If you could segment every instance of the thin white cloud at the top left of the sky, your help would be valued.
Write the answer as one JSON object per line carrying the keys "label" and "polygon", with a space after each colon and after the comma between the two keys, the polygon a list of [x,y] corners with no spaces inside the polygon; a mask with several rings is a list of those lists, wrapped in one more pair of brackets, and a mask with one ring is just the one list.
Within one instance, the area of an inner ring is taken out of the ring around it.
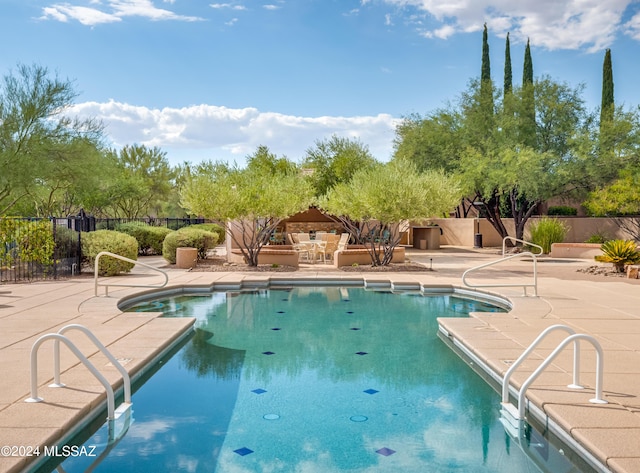
{"label": "thin white cloud at the top left of the sky", "polygon": [[[165,3],[172,4],[172,0],[164,0]],[[87,26],[94,26],[102,23],[114,23],[122,21],[125,17],[142,17],[149,20],[178,20],[178,21],[198,21],[201,18],[194,16],[178,15],[170,10],[157,8],[151,0],[108,0],[102,9],[100,2],[95,0],[85,1],[88,5],[72,5],[70,3],[56,3],[42,9],[41,19],[67,22],[76,20]]]}

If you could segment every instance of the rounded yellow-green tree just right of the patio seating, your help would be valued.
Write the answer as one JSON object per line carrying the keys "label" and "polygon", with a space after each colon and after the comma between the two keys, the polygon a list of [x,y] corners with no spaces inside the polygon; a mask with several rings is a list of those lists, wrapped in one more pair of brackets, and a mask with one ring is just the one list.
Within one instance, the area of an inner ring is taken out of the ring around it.
{"label": "rounded yellow-green tree just right of the patio seating", "polygon": [[459,182],[441,171],[419,173],[399,160],[358,171],[333,187],[322,207],[366,245],[373,266],[388,265],[400,243],[400,224],[451,211],[460,201]]}

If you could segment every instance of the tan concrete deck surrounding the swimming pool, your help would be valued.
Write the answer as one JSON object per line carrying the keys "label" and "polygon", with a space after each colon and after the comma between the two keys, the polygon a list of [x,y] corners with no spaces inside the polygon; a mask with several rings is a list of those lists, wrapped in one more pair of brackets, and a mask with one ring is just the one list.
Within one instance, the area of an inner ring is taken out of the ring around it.
{"label": "tan concrete deck surrounding the swimming pool", "polygon": [[[496,249],[409,249],[407,256],[431,272],[344,272],[323,265],[303,265],[293,273],[197,272],[164,267],[169,286],[227,287],[245,281],[266,283],[270,278],[304,279],[311,283],[329,277],[345,280],[392,281],[408,285],[462,287],[464,270],[499,258]],[[145,263],[165,266],[161,258]],[[581,382],[585,390],[566,388],[571,382],[572,350],[565,350],[527,392],[531,403],[563,428],[610,471],[640,473],[640,280],[578,273],[588,260],[552,260],[538,264],[538,297],[524,297],[521,288],[485,289],[511,301],[505,314],[474,314],[471,318],[443,319],[442,326],[460,345],[497,373],[504,374],[529,343],[546,327],[566,324],[594,336],[604,349],[606,405],[590,404],[595,386],[595,355],[583,345]],[[531,262],[512,260],[484,270],[473,282],[513,283],[530,280]],[[232,268],[230,268],[232,269]],[[479,273],[480,274],[480,273]],[[134,271],[114,278],[134,284],[158,281],[158,276]],[[34,341],[74,323],[89,327],[122,360],[134,376],[149,361],[191,329],[191,319],[158,318],[157,314],[123,314],[117,302],[140,288],[113,287],[109,296],[94,296],[93,279],[83,276],[54,282],[3,285],[0,289],[0,447],[53,446],[79,421],[104,405],[104,388],[68,352],[62,350],[64,389],[49,388],[53,379],[51,345],[39,351],[38,395],[41,403],[25,403],[30,396],[29,354]],[[4,291],[10,291],[6,293]],[[529,290],[531,294],[531,290]],[[119,386],[119,374],[82,334],[70,334],[89,359]],[[536,350],[541,360],[564,334],[553,334]],[[103,369],[104,368],[104,369]],[[512,378],[520,386],[535,366],[526,363]],[[496,406],[498,409],[499,406]],[[2,452],[4,453],[4,452]],[[16,450],[17,453],[17,450]],[[32,458],[0,455],[0,472],[18,472]]]}

